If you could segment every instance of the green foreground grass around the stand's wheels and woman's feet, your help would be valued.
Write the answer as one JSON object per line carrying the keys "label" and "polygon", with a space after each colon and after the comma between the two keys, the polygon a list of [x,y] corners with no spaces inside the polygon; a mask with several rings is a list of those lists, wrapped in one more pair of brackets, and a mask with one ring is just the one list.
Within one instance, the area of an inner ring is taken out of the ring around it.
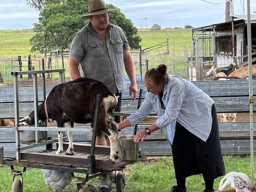
{"label": "green foreground grass around the stand's wheels and woman's feet", "polygon": [[[226,174],[229,172],[242,172],[249,176],[251,182],[254,178],[250,176],[250,156],[224,156]],[[254,162],[255,164],[255,162]],[[126,176],[126,192],[169,192],[170,188],[176,184],[172,157],[149,158],[144,162],[137,162],[124,168]],[[76,176],[85,177],[84,174]],[[20,178],[20,176],[16,176]],[[44,183],[44,178],[40,169],[26,170],[23,174],[24,192],[51,192]],[[214,182],[215,190],[218,189],[219,177]],[[21,179],[21,178],[20,178]],[[89,184],[98,187],[98,179],[89,180]],[[0,192],[10,192],[12,188],[12,174],[10,167],[0,166]],[[202,192],[204,190],[204,180],[202,175],[190,176],[186,179],[186,186],[189,192]],[[114,184],[112,187],[115,188]],[[226,188],[230,188],[228,185]],[[74,180],[63,192],[76,192]],[[116,192],[114,189],[113,192]]]}

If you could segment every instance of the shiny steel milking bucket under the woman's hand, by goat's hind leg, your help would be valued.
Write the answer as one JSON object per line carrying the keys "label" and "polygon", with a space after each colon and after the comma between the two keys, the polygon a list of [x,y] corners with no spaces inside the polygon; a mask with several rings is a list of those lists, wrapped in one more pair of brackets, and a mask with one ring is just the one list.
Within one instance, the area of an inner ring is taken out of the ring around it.
{"label": "shiny steel milking bucket under the woman's hand, by goat's hind leg", "polygon": [[135,135],[118,136],[119,158],[123,161],[136,161],[138,159],[138,143],[134,142]]}

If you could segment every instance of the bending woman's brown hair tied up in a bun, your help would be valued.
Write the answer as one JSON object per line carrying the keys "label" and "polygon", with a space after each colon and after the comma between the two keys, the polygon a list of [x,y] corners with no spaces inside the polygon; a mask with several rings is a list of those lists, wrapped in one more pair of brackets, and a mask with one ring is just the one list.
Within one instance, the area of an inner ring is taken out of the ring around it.
{"label": "bending woman's brown hair tied up in a bun", "polygon": [[153,85],[165,84],[169,80],[169,75],[166,73],[167,67],[164,64],[158,65],[157,68],[152,68],[146,71],[144,80]]}

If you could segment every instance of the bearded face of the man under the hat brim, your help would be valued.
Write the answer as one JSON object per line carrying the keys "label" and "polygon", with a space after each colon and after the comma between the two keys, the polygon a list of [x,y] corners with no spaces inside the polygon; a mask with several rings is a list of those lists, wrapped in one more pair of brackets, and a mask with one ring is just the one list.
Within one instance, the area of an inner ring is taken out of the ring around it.
{"label": "bearded face of the man under the hat brim", "polygon": [[95,29],[103,31],[108,26],[108,14],[90,16],[90,21]]}

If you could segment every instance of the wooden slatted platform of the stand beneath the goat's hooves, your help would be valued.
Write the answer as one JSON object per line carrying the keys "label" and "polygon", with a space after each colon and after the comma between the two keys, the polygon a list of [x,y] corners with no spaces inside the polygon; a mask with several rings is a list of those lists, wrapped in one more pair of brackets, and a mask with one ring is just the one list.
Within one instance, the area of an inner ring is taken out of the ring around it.
{"label": "wooden slatted platform of the stand beneath the goat's hooves", "polygon": [[[66,151],[68,143],[64,142],[63,148]],[[74,155],[55,154],[56,150],[42,150],[38,152],[21,152],[21,160],[18,162],[22,165],[32,164],[37,165],[47,165],[47,166],[57,166],[57,167],[67,167],[67,168],[82,168],[88,169],[88,156],[90,156],[90,144],[79,144],[74,143]],[[128,164],[138,162],[146,159],[144,153],[140,150],[140,156],[138,160],[133,162],[127,162],[117,159],[115,163],[112,163],[110,158],[110,147],[109,146],[96,146],[95,147],[95,158],[96,158],[96,170],[120,170]],[[40,166],[39,166],[40,167]]]}

